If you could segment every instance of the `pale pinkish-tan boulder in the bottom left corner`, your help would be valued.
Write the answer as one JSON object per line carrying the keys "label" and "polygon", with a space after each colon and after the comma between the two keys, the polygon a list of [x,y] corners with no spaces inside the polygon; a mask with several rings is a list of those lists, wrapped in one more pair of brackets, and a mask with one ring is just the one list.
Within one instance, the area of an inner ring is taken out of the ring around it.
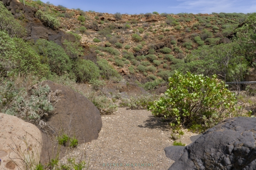
{"label": "pale pinkish-tan boulder in the bottom left corner", "polygon": [[0,113],[0,128],[0,170],[25,170],[23,160],[29,157],[39,163],[42,135],[35,125]]}

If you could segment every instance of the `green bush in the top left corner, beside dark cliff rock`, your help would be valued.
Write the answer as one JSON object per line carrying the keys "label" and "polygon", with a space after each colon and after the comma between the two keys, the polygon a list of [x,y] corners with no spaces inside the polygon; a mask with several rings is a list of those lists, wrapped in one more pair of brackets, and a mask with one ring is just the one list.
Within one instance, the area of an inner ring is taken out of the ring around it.
{"label": "green bush in the top left corner, beside dark cliff rock", "polygon": [[13,17],[12,13],[3,6],[3,2],[0,2],[0,31],[6,31],[10,37],[23,37],[26,33],[17,20]]}

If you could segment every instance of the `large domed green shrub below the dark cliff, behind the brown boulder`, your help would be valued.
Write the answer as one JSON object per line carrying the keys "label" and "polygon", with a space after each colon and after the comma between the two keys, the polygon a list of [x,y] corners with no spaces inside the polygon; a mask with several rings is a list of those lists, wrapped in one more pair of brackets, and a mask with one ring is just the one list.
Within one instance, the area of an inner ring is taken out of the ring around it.
{"label": "large domed green shrub below the dark cliff, behind the brown boulder", "polygon": [[63,75],[71,71],[72,63],[64,49],[52,41],[37,40],[35,51],[42,56],[42,62],[49,65],[52,73]]}

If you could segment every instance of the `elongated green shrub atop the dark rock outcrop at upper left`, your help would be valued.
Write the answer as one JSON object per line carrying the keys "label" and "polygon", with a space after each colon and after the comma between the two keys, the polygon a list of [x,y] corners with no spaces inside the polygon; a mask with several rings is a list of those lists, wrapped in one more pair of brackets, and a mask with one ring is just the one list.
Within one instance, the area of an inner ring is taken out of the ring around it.
{"label": "elongated green shrub atop the dark rock outcrop at upper left", "polygon": [[47,12],[38,10],[35,13],[35,16],[38,17],[43,23],[45,23],[50,28],[58,28],[60,26],[60,22],[58,21],[58,19],[53,17],[51,14],[48,14]]}

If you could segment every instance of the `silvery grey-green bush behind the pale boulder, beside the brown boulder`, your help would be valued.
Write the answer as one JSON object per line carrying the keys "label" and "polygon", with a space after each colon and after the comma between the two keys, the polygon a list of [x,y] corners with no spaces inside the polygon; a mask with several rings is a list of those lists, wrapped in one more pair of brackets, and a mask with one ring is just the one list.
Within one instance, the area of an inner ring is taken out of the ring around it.
{"label": "silvery grey-green bush behind the pale boulder, beside the brown boulder", "polygon": [[51,92],[48,85],[41,86],[40,83],[30,91],[18,88],[15,82],[2,83],[0,85],[1,112],[37,125],[40,122],[44,124],[43,119],[50,116],[54,109],[49,96],[52,96],[52,101],[54,101],[58,91]]}

